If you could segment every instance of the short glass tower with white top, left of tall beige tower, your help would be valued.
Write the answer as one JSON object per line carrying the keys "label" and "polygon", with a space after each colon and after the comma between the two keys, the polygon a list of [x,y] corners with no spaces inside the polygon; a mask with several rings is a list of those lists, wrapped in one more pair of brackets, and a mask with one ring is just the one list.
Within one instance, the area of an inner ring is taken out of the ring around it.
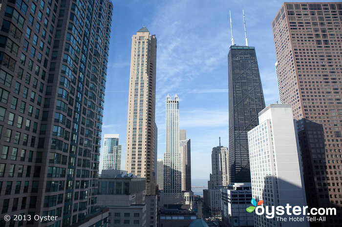
{"label": "short glass tower with white top, left of tall beige tower", "polygon": [[120,169],[121,145],[119,134],[105,134],[105,142],[102,154],[102,169]]}

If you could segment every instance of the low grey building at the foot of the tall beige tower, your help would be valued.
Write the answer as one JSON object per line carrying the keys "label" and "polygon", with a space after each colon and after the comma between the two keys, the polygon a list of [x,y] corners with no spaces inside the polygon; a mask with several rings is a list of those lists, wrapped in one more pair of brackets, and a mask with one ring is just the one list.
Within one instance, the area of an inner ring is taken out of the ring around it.
{"label": "low grey building at the foot of the tall beige tower", "polygon": [[109,209],[108,227],[147,227],[146,179],[123,170],[102,170],[98,203]]}

